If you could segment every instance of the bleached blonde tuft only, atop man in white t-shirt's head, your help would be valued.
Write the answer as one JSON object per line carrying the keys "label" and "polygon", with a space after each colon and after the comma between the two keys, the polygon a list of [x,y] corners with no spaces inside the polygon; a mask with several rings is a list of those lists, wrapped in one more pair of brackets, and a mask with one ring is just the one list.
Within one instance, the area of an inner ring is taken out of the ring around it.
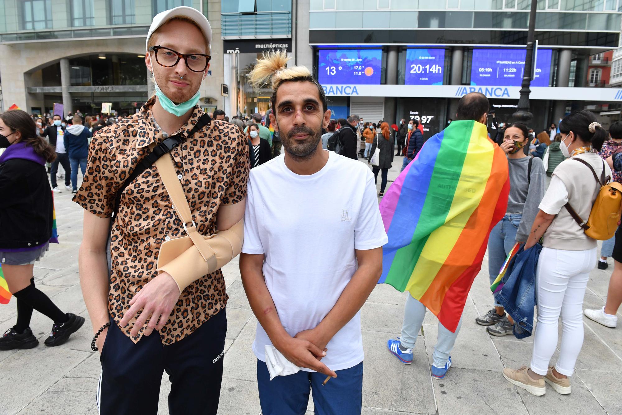
{"label": "bleached blonde tuft only, atop man in white t-shirt's head", "polygon": [[304,66],[287,67],[290,57],[284,49],[263,52],[255,67],[248,74],[249,83],[258,90],[272,81],[271,88],[276,90],[282,82],[302,77],[311,77],[311,72]]}

